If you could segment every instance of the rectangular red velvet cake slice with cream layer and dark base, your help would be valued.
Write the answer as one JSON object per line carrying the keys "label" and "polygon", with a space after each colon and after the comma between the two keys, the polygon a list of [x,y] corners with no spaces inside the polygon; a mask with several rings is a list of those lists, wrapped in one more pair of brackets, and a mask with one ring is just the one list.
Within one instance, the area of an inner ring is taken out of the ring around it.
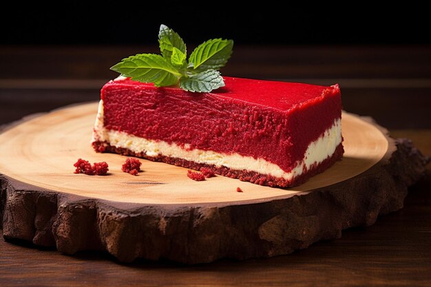
{"label": "rectangular red velvet cake slice with cream layer and dark base", "polygon": [[300,184],[343,155],[338,85],[231,77],[224,83],[193,93],[109,81],[92,145],[271,187]]}

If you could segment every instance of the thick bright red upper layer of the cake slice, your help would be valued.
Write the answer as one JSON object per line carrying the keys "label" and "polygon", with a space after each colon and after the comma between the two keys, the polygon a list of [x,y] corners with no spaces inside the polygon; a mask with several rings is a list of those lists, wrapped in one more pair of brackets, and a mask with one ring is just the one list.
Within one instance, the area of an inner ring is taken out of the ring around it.
{"label": "thick bright red upper layer of the cake slice", "polygon": [[110,81],[103,89],[104,124],[188,149],[264,158],[291,171],[308,145],[341,118],[338,85],[224,77],[211,93]]}

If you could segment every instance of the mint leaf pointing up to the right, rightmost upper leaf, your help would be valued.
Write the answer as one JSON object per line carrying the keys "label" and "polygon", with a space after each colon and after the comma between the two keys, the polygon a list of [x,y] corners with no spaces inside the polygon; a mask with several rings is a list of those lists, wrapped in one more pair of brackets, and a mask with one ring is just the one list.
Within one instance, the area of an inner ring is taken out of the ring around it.
{"label": "mint leaf pointing up to the right, rightmost upper leaf", "polygon": [[211,39],[196,47],[189,57],[189,68],[194,72],[219,70],[232,54],[233,41]]}

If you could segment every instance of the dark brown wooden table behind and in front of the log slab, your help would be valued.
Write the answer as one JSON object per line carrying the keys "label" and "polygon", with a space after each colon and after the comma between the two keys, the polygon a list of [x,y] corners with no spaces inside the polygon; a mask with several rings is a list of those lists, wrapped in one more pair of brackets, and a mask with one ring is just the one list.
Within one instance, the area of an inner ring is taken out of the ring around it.
{"label": "dark brown wooden table behind and in front of the log slab", "polygon": [[[108,77],[105,66],[116,57],[133,54],[134,49],[0,47],[0,63],[10,68],[9,73],[0,69],[0,124],[68,103],[96,100]],[[240,56],[227,74],[257,78],[270,74],[271,78],[299,78],[310,83],[322,82],[316,80],[321,78],[328,83],[337,81],[346,110],[377,118],[392,136],[410,138],[423,153],[431,154],[430,47],[238,50]],[[259,53],[289,56],[253,62]],[[36,68],[40,61],[27,61],[30,67],[25,72],[14,72],[8,59],[16,59],[13,56],[17,54],[25,55],[22,61],[34,56],[50,59],[48,66],[55,64],[61,69],[55,74],[48,67],[41,73]],[[334,67],[331,61],[335,59]],[[311,70],[307,72],[305,66]],[[96,67],[104,72],[95,72]],[[338,240],[271,259],[224,259],[198,266],[145,261],[118,264],[105,253],[66,256],[0,237],[0,286],[84,285],[431,286],[431,167],[428,165],[425,178],[410,188],[400,211],[380,217],[373,226],[344,231]]]}

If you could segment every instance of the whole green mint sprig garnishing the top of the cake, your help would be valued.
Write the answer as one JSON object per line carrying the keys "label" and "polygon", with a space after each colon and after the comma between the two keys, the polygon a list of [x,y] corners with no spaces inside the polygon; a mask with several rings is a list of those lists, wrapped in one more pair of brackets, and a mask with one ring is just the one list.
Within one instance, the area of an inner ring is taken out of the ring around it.
{"label": "whole green mint sprig garnishing the top of the cake", "polygon": [[211,39],[198,45],[187,61],[187,47],[180,35],[160,25],[158,43],[161,55],[136,54],[123,59],[111,70],[134,81],[156,87],[179,85],[189,92],[211,92],[224,87],[221,67],[231,57],[233,41]]}

